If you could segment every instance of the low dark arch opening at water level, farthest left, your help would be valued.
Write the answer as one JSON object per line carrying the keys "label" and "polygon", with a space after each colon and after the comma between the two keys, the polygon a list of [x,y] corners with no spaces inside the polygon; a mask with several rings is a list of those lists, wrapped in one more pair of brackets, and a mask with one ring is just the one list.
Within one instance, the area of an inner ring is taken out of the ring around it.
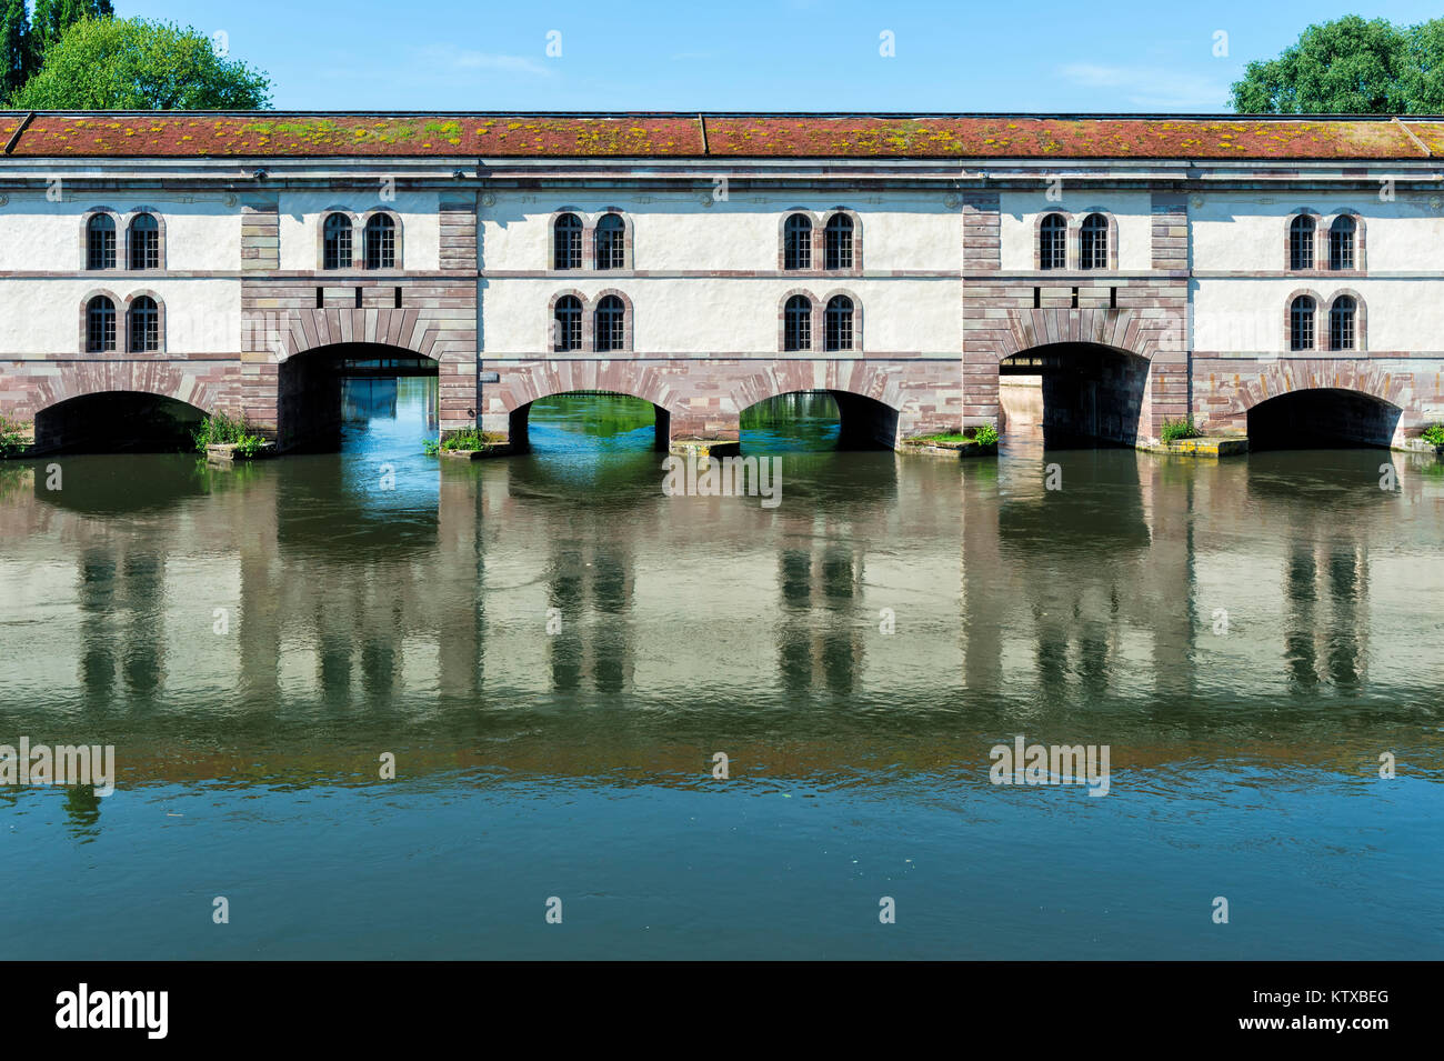
{"label": "low dark arch opening at water level, farthest left", "polygon": [[183,453],[205,410],[149,391],[78,394],[36,411],[36,453]]}

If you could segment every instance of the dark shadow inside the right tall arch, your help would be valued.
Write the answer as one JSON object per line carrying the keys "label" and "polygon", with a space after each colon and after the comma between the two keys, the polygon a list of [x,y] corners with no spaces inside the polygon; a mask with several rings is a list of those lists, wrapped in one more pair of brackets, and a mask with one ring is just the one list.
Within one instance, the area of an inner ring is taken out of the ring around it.
{"label": "dark shadow inside the right tall arch", "polygon": [[1051,342],[998,364],[1001,377],[1041,377],[1043,445],[1136,445],[1148,436],[1148,358],[1100,342]]}

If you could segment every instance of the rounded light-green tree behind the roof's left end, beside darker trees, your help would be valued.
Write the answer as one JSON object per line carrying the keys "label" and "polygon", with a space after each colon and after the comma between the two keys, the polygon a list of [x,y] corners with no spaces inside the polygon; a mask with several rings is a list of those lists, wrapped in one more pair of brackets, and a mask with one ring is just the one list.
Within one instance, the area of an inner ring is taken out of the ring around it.
{"label": "rounded light-green tree behind the roof's left end, beside darker trees", "polygon": [[17,110],[254,110],[270,78],[169,22],[82,19],[12,98]]}

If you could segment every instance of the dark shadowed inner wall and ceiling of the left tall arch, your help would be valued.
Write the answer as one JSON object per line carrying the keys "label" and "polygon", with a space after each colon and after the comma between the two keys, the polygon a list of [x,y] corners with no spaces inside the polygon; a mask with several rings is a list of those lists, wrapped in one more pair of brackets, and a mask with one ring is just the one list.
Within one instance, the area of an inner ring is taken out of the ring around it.
{"label": "dark shadowed inner wall and ceiling of the left tall arch", "polygon": [[277,447],[339,447],[342,380],[438,375],[439,364],[425,354],[380,342],[334,342],[293,354],[280,362],[277,378]]}

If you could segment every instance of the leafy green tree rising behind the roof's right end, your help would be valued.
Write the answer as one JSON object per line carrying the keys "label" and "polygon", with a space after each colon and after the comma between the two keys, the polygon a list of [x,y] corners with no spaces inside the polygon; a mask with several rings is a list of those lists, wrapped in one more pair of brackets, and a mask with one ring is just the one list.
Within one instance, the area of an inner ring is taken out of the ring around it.
{"label": "leafy green tree rising behind the roof's right end", "polygon": [[1240,114],[1437,114],[1444,110],[1444,19],[1399,29],[1347,14],[1310,26],[1233,85]]}

